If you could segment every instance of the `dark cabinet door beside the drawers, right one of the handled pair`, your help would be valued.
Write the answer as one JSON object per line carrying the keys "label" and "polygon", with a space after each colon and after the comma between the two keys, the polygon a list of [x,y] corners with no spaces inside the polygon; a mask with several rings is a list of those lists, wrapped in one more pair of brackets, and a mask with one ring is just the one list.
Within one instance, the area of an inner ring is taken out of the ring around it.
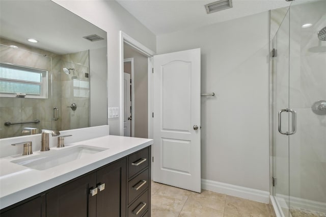
{"label": "dark cabinet door beside the drawers, right one of the handled pair", "polygon": [[126,216],[126,176],[126,158],[97,171],[97,186],[105,187],[98,188],[96,217]]}

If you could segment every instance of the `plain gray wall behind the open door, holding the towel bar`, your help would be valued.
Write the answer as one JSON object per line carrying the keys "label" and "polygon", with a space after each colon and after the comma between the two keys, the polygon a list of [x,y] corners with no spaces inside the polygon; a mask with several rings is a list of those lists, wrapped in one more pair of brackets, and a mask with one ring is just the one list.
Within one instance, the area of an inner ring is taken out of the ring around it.
{"label": "plain gray wall behind the open door, holding the towel bar", "polygon": [[269,13],[157,36],[157,53],[198,47],[216,94],[201,98],[202,178],[269,192]]}

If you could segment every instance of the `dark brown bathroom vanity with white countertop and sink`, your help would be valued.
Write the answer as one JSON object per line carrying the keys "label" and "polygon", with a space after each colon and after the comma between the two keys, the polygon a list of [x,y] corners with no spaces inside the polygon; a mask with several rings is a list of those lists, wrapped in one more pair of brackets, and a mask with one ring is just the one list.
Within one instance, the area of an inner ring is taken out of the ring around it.
{"label": "dark brown bathroom vanity with white countertop and sink", "polygon": [[[150,216],[152,144],[106,135],[51,154],[1,158],[1,216]],[[66,162],[71,150],[79,158]],[[64,163],[42,161],[61,154],[56,159]]]}

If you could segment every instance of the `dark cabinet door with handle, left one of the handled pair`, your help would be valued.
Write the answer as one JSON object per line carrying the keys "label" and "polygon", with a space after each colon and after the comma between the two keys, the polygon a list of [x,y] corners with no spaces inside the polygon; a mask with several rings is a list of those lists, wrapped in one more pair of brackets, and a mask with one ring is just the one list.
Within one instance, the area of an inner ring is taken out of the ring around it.
{"label": "dark cabinet door with handle, left one of the handled pair", "polygon": [[94,187],[95,172],[56,187],[46,195],[46,217],[95,217],[96,195],[89,194]]}

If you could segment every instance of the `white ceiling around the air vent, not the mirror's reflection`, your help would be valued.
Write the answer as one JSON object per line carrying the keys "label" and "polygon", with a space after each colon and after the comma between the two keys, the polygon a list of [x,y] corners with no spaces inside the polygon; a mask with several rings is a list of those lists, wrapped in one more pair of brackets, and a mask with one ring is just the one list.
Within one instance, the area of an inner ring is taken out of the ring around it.
{"label": "white ceiling around the air vent, not the mirror's reflection", "polygon": [[205,5],[214,0],[116,1],[155,35],[195,29],[290,5],[285,0],[233,0],[233,8],[207,14]]}

